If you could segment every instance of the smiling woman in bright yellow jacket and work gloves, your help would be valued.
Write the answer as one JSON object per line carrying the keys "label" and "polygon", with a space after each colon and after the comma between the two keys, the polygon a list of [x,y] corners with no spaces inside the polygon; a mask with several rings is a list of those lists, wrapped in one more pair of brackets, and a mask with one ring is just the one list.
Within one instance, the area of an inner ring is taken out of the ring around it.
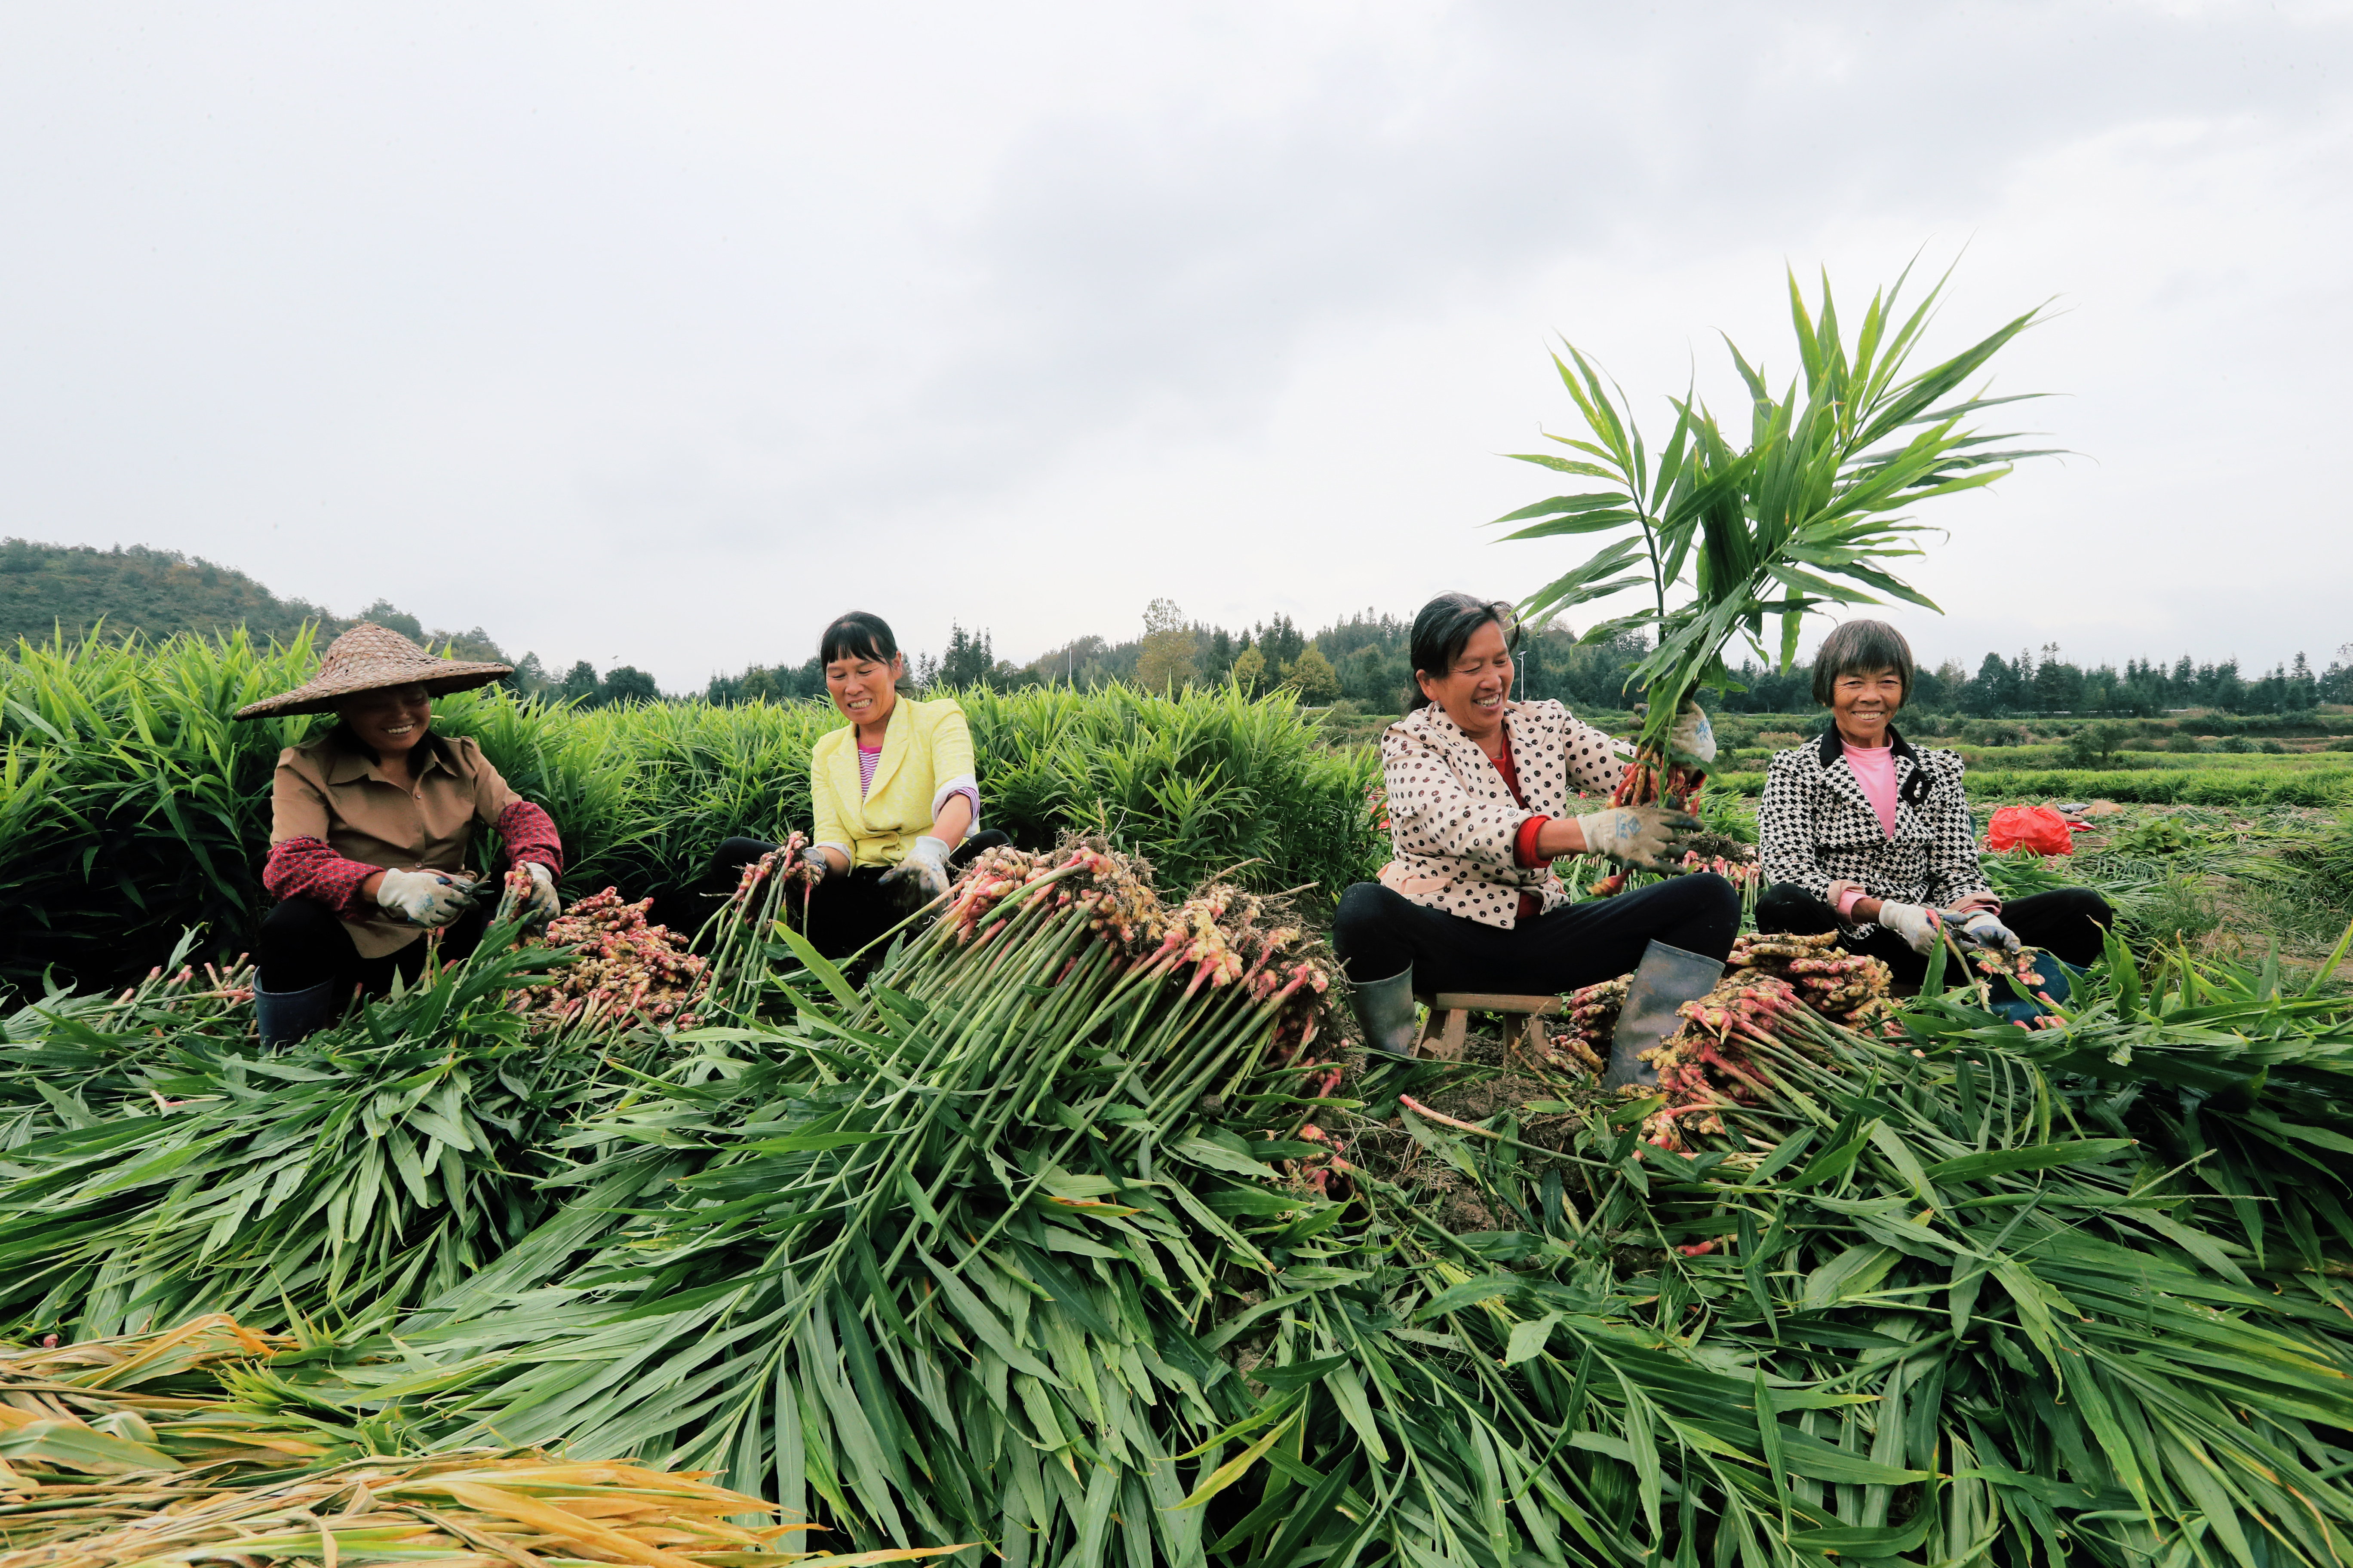
{"label": "smiling woman in bright yellow jacket and work gloves", "polygon": [[[899,691],[906,656],[880,616],[849,611],[838,618],[816,656],[826,668],[826,696],[849,724],[819,736],[809,750],[816,820],[802,872],[807,936],[828,959],[842,959],[946,893],[972,856],[1012,839],[976,832],[981,785],[965,710],[955,698],[925,703]],[[722,842],[699,884],[701,912],[772,849],[765,839]],[[696,919],[692,910],[675,912],[685,919],[671,924]]]}

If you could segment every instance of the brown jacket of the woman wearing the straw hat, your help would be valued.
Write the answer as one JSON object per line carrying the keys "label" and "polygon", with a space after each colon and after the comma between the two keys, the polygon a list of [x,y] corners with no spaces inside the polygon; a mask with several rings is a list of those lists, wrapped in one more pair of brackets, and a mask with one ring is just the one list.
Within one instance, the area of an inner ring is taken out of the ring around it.
{"label": "brown jacket of the woman wearing the straw hat", "polygon": [[[492,827],[518,795],[473,741],[428,733],[416,745],[416,785],[402,790],[341,729],[278,752],[271,780],[271,844],[322,839],[362,865],[466,870],[473,825]],[[421,929],[391,919],[344,919],[362,959],[400,952]]]}

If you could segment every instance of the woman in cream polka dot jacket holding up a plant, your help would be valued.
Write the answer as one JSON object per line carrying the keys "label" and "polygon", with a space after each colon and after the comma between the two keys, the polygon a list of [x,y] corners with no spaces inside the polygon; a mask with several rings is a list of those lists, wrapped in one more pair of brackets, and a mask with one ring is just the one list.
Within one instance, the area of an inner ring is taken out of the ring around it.
{"label": "woman in cream polka dot jacket holding up a plant", "polygon": [[[1414,616],[1412,710],[1381,736],[1395,858],[1379,882],[1341,896],[1332,926],[1377,1051],[1412,1051],[1414,992],[1551,997],[1642,966],[1661,971],[1652,978],[1680,1004],[1722,976],[1732,950],[1741,900],[1708,872],[1569,903],[1555,858],[1602,853],[1659,870],[1682,858],[1678,837],[1699,823],[1664,806],[1572,813],[1572,790],[1617,788],[1626,752],[1560,703],[1513,703],[1515,642],[1511,607],[1466,592]],[[1675,748],[1699,762],[1715,755],[1697,708]],[[1678,961],[1680,976],[1666,976]],[[1626,1056],[1612,1079],[1642,1077]]]}

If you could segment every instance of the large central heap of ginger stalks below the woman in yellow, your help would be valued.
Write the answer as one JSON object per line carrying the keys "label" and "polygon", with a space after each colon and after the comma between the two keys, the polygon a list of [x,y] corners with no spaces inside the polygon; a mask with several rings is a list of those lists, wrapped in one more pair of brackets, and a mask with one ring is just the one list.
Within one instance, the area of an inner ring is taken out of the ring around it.
{"label": "large central heap of ginger stalks below the woman in yellow", "polygon": [[1252,1413],[1202,1335],[1235,1269],[1266,1276],[1240,1227],[1311,1201],[1249,1178],[1329,1150],[1287,1135],[1337,1079],[1322,945],[1075,842],[981,853],[852,985],[786,870],[753,867],[715,933],[744,1011],[567,1135],[565,1246],[400,1328],[466,1368],[452,1441],[659,1453],[878,1549],[1198,1561],[1179,1472],[1219,1462],[1169,1455]]}

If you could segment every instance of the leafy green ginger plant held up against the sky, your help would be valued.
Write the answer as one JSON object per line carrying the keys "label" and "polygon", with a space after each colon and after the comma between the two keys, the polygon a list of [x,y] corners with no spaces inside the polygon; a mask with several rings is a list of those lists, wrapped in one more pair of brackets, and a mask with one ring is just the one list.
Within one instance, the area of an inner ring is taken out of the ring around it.
{"label": "leafy green ginger plant held up against the sky", "polygon": [[[1607,489],[1548,496],[1497,522],[1525,524],[1506,538],[1612,536],[1584,564],[1527,595],[1520,611],[1532,621],[1624,588],[1652,590],[1645,609],[1602,621],[1584,637],[1607,642],[1624,630],[1657,628],[1657,646],[1631,677],[1647,693],[1649,712],[1612,804],[1692,802],[1706,759],[1692,757],[1678,736],[1692,729],[1687,715],[1701,689],[1734,689],[1722,658],[1732,637],[1746,635],[1762,663],[1788,668],[1809,609],[1878,604],[1875,595],[1937,609],[1887,571],[1889,557],[1920,552],[1911,543],[1920,527],[1901,510],[1993,484],[2017,458],[2045,456],[1991,451],[1988,444],[2014,437],[1984,435],[1967,423],[1979,409],[2017,397],[1944,402],[2042,310],[1906,376],[1944,280],[1899,322],[1901,289],[1904,277],[1897,277],[1892,289],[1871,296],[1849,350],[1828,277],[1821,308],[1807,310],[1791,275],[1791,322],[1805,374],[1779,397],[1765,371],[1727,339],[1751,395],[1746,447],[1727,442],[1706,404],[1687,393],[1668,400],[1675,428],[1652,451],[1617,383],[1574,346],[1562,346],[1567,362],[1553,357],[1586,433],[1551,437],[1574,456],[1513,456],[1600,480]],[[1765,621],[1774,616],[1781,621],[1779,656],[1765,649]]]}

